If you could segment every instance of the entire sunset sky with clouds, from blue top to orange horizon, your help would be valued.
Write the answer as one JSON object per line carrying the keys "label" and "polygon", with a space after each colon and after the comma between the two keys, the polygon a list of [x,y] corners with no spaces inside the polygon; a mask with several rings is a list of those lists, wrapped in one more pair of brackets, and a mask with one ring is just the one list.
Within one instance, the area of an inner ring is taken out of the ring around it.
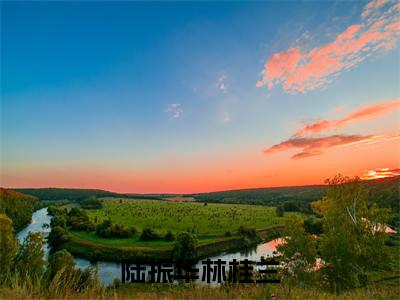
{"label": "entire sunset sky with clouds, from blue top to orange horizon", "polygon": [[400,3],[1,2],[0,185],[400,174]]}

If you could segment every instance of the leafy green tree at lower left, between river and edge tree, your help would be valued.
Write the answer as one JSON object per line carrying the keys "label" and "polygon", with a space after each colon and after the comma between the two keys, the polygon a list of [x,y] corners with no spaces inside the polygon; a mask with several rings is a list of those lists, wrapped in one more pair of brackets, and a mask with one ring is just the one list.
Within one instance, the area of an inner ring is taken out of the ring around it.
{"label": "leafy green tree at lower left, between river and edge tree", "polygon": [[23,281],[40,280],[45,269],[44,238],[39,232],[29,232],[15,258],[15,270]]}

